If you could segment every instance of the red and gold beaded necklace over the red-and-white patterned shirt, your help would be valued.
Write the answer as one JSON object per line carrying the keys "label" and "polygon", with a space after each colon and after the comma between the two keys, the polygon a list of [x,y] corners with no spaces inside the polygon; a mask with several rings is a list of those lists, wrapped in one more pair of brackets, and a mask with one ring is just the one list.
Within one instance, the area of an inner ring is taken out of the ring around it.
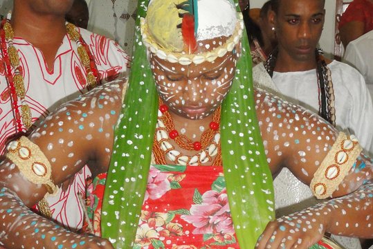
{"label": "red and gold beaded necklace over the red-and-white patterned shirt", "polygon": [[[78,45],[78,56],[87,74],[87,89],[93,89],[100,84],[100,75],[95,66],[93,55],[86,42],[78,33],[73,24],[66,22],[66,31],[69,38]],[[1,21],[0,44],[3,61],[5,62],[6,79],[10,90],[12,109],[15,116],[16,130],[22,132],[22,123],[26,129],[33,124],[30,107],[26,102],[26,89],[24,86],[23,68],[20,63],[17,48],[13,43],[14,32],[10,25],[10,17]],[[14,75],[12,73],[14,72]],[[20,100],[20,104],[19,104]],[[20,111],[19,111],[20,109]]]}

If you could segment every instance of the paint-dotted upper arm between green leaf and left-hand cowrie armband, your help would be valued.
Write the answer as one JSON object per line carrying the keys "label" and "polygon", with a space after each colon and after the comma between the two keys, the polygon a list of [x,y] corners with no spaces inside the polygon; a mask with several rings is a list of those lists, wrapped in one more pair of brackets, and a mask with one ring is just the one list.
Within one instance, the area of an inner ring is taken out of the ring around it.
{"label": "paint-dotted upper arm between green leaf and left-hand cowrie armband", "polygon": [[[122,89],[127,83],[110,82],[80,98],[66,102],[39,124],[30,135],[51,161],[55,181],[64,181],[90,162],[108,164],[113,144],[113,127],[122,106]],[[64,172],[64,174],[61,174]],[[66,174],[67,173],[67,174]]]}

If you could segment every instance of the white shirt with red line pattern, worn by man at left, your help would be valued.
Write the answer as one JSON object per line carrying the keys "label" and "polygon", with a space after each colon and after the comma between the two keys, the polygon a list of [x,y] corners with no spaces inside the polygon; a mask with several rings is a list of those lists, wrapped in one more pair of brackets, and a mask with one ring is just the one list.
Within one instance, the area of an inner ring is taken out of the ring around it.
{"label": "white shirt with red line pattern, worn by man at left", "polygon": [[[82,38],[89,46],[100,73],[102,83],[127,75],[129,57],[116,42],[79,28]],[[26,102],[31,109],[33,123],[44,119],[63,102],[86,92],[87,75],[80,62],[77,44],[65,35],[57,50],[53,68],[48,68],[42,52],[21,37],[13,39],[23,68]],[[14,73],[14,72],[13,72]],[[24,131],[26,128],[23,127]],[[6,79],[6,64],[0,53],[0,151],[6,141],[17,132],[10,89]],[[74,183],[66,192],[48,199],[53,218],[70,228],[80,228],[83,222],[78,192],[85,192],[85,179],[90,175],[84,167],[76,174]]]}

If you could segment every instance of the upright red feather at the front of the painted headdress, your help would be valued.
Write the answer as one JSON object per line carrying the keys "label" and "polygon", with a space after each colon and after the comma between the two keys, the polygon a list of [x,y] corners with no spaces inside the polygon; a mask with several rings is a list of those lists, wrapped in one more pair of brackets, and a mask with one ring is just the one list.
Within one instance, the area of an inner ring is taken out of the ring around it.
{"label": "upright red feather at the front of the painted headdress", "polygon": [[197,50],[197,28],[198,28],[198,12],[197,12],[197,0],[188,0],[179,5],[176,8],[185,10],[186,12],[181,13],[182,17],[181,35],[183,35],[184,49],[188,53],[194,53]]}

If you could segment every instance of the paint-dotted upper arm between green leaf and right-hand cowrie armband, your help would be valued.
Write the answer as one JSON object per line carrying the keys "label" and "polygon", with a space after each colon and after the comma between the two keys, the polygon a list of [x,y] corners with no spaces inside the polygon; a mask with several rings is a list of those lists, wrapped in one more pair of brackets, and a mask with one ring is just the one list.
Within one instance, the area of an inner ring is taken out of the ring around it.
{"label": "paint-dotted upper arm between green leaf and right-hand cowrie armband", "polygon": [[307,183],[336,139],[336,129],[304,107],[255,90],[255,109],[273,174],[288,167]]}

